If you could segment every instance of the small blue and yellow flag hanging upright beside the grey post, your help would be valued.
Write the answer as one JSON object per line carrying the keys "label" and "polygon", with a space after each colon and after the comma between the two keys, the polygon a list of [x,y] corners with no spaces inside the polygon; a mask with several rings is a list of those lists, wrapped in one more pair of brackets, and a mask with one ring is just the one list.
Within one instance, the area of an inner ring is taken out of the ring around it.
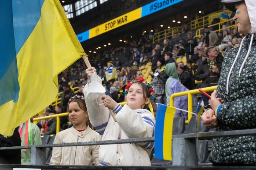
{"label": "small blue and yellow flag hanging upright beside the grey post", "polygon": [[172,125],[175,107],[157,103],[155,157],[172,160]]}

